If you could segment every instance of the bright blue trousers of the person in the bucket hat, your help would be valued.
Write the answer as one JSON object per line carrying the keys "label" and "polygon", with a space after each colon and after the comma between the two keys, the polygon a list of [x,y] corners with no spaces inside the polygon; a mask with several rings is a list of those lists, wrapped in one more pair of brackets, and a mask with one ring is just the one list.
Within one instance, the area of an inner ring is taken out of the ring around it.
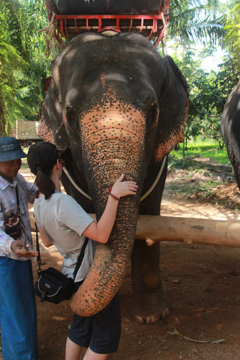
{"label": "bright blue trousers of the person in the bucket hat", "polygon": [[31,260],[0,256],[3,360],[37,360],[37,310]]}

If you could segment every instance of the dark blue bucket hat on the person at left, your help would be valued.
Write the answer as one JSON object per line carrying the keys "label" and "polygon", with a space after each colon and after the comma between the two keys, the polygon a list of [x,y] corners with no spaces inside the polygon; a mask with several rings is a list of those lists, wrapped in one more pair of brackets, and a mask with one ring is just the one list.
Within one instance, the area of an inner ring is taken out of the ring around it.
{"label": "dark blue bucket hat on the person at left", "polygon": [[0,137],[0,162],[27,157],[21,150],[20,142],[15,137]]}

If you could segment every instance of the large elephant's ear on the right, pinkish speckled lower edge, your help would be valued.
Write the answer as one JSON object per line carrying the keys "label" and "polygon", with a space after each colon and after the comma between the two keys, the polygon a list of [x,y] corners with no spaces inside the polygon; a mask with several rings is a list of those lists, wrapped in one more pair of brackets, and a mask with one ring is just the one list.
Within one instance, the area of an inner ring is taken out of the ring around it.
{"label": "large elephant's ear on the right, pinkish speckled lower edge", "polygon": [[178,142],[184,140],[189,103],[188,85],[181,70],[170,56],[165,56],[162,61],[166,73],[160,89],[160,112],[154,152],[156,162],[160,162]]}

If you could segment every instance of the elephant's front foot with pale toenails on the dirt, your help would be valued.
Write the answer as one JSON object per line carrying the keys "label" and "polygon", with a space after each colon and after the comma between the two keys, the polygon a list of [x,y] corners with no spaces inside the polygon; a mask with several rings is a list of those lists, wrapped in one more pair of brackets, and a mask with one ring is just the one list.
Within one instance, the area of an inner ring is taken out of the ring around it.
{"label": "elephant's front foot with pale toenails on the dirt", "polygon": [[170,315],[170,303],[165,295],[156,301],[139,301],[139,298],[132,300],[132,315],[139,324],[152,325],[166,319]]}

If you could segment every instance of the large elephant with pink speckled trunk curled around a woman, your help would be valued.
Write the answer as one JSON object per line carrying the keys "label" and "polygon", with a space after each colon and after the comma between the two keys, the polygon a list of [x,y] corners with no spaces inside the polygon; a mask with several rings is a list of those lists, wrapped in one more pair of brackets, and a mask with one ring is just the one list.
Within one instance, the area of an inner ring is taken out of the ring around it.
{"label": "large elephant with pink speckled trunk curled around a woman", "polygon": [[70,307],[90,316],[118,291],[132,263],[132,315],[139,323],[169,316],[159,274],[159,244],[135,239],[138,214],[159,215],[167,161],[184,139],[188,111],[186,79],[170,56],[161,57],[137,33],[84,33],[71,40],[53,64],[42,104],[42,139],[55,143],[79,193],[63,173],[62,184],[97,221],[109,187],[122,173],[138,185],[121,198],[107,244],[97,244],[90,271]]}

